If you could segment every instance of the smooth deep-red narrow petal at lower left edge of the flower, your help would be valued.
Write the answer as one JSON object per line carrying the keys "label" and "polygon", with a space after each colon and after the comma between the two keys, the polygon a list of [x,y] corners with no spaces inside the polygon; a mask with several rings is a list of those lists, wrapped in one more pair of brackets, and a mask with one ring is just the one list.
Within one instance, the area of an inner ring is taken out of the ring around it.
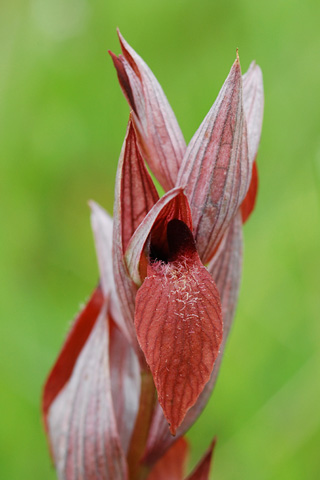
{"label": "smooth deep-red narrow petal at lower left edge of the flower", "polygon": [[69,381],[77,358],[85,345],[103,305],[103,293],[98,286],[82,312],[75,319],[43,389],[42,413],[48,430],[48,411],[59,392]]}

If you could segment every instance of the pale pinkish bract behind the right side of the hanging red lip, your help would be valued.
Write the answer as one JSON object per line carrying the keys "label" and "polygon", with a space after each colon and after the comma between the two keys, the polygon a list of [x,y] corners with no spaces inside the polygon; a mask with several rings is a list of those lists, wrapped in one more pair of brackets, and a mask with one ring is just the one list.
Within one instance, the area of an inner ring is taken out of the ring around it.
{"label": "pale pinkish bract behind the right side of the hanging red lip", "polygon": [[[222,305],[223,341],[220,347],[220,353],[215,361],[209,382],[204,387],[194,407],[187,412],[186,418],[177,430],[177,436],[184,435],[193,425],[206,406],[214,388],[220,369],[224,345],[230,331],[237,304],[241,280],[241,266],[242,222],[240,212],[238,212],[226,231],[217,253],[208,265],[208,271],[212,275],[220,292]],[[157,459],[170,448],[174,441],[175,438],[170,435],[162,409],[158,405],[155,409],[144,455],[146,464],[152,465],[157,461]]]}

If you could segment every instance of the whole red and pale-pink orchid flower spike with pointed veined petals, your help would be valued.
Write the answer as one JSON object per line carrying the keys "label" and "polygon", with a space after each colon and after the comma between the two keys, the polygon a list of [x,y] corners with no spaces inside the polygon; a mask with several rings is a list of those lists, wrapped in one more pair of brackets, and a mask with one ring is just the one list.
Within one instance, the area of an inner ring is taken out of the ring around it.
{"label": "whole red and pale-pink orchid flower spike with pointed veined petals", "polygon": [[[237,58],[186,146],[151,70],[119,33],[130,106],[113,219],[90,202],[100,281],[44,387],[63,480],[182,480],[183,435],[214,387],[257,193],[260,68]],[[165,190],[159,198],[146,163]],[[206,480],[214,442],[189,480]]]}

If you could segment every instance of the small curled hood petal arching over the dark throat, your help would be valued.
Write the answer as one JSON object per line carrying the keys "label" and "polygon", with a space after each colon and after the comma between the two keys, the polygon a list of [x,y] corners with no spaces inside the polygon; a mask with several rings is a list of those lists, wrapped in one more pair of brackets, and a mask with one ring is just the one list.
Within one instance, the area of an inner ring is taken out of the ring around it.
{"label": "small curled hood petal arching over the dark throat", "polygon": [[[146,268],[146,259],[143,252],[151,231],[154,233],[155,243],[166,247],[167,224],[170,220],[182,220],[192,229],[190,207],[183,187],[173,188],[158,200],[150,212],[141,222],[125,253],[126,264],[130,277],[136,285],[141,285],[141,271]],[[146,272],[143,272],[144,276]]]}

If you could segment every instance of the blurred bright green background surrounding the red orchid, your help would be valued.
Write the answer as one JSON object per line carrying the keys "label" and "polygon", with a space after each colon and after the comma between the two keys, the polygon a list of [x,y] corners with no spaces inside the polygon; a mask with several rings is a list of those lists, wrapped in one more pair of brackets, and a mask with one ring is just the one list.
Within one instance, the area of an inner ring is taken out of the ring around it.
{"label": "blurred bright green background surrounding the red orchid", "polygon": [[320,478],[320,3],[2,0],[0,478],[54,479],[42,384],[96,284],[88,199],[112,211],[128,118],[119,26],[187,141],[239,47],[261,65],[260,191],[240,302],[190,466],[218,436],[213,478]]}

